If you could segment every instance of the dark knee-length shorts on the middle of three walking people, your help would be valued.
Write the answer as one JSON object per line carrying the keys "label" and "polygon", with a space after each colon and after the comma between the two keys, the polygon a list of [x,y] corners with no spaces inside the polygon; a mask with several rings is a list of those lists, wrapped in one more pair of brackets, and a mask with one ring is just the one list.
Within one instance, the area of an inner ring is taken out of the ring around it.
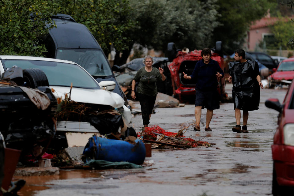
{"label": "dark knee-length shorts on the middle of three walking people", "polygon": [[215,90],[199,90],[196,89],[195,106],[202,106],[209,110],[216,110],[220,108],[220,95]]}

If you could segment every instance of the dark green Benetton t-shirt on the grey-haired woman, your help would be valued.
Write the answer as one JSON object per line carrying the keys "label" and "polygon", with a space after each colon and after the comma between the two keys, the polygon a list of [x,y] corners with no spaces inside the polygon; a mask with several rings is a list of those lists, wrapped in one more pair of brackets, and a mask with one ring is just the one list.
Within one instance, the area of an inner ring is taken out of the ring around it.
{"label": "dark green Benetton t-shirt on the grey-haired woman", "polygon": [[141,67],[134,77],[134,81],[139,82],[138,93],[156,96],[156,79],[161,79],[161,74],[157,68],[152,67],[152,70],[147,72],[145,67]]}

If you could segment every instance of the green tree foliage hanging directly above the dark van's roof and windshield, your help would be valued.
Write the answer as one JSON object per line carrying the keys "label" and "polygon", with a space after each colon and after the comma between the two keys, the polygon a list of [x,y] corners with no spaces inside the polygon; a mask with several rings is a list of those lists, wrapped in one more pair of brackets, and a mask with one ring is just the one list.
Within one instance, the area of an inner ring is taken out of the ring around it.
{"label": "green tree foliage hanging directly above the dark van's roof and windshield", "polygon": [[53,0],[60,13],[71,15],[78,23],[84,24],[104,52],[111,45],[121,51],[128,46],[130,38],[124,32],[134,27],[135,21],[129,16],[127,0]]}

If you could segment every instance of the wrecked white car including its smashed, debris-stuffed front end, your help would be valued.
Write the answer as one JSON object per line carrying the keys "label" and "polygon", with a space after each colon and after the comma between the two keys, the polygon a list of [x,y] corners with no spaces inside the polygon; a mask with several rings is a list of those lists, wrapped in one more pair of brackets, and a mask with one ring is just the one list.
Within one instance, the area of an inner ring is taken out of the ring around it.
{"label": "wrecked white car including its smashed, debris-stuffed front end", "polygon": [[[124,134],[131,127],[129,125],[132,119],[130,109],[124,105],[124,100],[121,96],[109,91],[115,88],[114,82],[101,81],[98,83],[77,63],[53,58],[27,56],[0,56],[0,61],[1,73],[16,66],[23,70],[37,68],[46,74],[49,87],[53,89],[55,98],[59,99],[61,103],[58,104],[56,109],[57,112],[61,111],[61,115],[57,118],[55,140],[66,141],[66,132],[110,134],[120,131],[121,134]],[[34,88],[34,82],[38,82],[38,80],[33,80],[32,82],[29,85]],[[49,90],[51,92],[51,89]],[[70,107],[65,107],[67,110],[61,110],[62,103],[69,103],[69,101],[75,104],[67,106],[74,106],[78,109],[83,108],[81,113],[78,114],[74,110],[75,108]],[[58,145],[63,142],[51,143],[52,145]]]}

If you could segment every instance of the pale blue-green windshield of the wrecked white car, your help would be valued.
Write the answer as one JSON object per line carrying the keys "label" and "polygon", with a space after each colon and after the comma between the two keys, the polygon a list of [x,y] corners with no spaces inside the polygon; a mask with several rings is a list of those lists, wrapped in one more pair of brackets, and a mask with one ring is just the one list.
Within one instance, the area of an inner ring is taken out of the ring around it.
{"label": "pale blue-green windshield of the wrecked white car", "polygon": [[50,86],[70,86],[84,89],[100,89],[97,82],[80,66],[51,61],[2,60],[4,69],[17,66],[24,69],[39,68],[48,78]]}

